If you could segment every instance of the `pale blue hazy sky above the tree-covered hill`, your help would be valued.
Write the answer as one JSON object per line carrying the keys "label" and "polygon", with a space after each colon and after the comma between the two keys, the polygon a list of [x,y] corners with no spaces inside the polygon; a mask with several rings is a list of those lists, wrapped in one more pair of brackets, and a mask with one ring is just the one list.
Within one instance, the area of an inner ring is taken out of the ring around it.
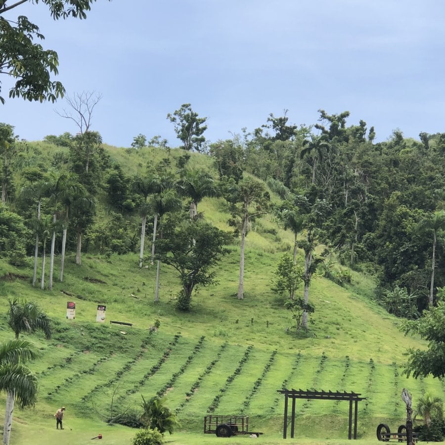
{"label": "pale blue hazy sky above the tree-covered hill", "polygon": [[[3,16],[18,15],[57,51],[54,80],[69,96],[102,95],[91,130],[110,145],[159,134],[179,146],[167,114],[183,103],[208,118],[209,141],[284,110],[308,126],[318,109],[348,110],[348,125],[364,120],[377,141],[445,132],[443,0],[97,0],[86,20],[58,21],[27,2]],[[77,133],[57,114],[64,99],[9,99],[1,76],[0,122],[20,138]]]}

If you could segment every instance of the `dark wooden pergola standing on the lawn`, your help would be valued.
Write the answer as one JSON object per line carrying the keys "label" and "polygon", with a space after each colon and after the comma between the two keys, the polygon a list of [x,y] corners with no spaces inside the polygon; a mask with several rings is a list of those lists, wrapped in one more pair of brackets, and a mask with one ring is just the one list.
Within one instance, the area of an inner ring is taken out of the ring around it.
{"label": "dark wooden pergola standing on the lawn", "polygon": [[291,438],[294,437],[295,432],[295,400],[296,399],[306,399],[306,400],[344,400],[349,401],[349,432],[348,439],[352,439],[352,422],[353,422],[353,403],[354,408],[354,439],[357,439],[357,402],[361,400],[366,400],[366,397],[359,397],[360,394],[346,391],[333,393],[332,391],[303,391],[300,390],[278,390],[278,393],[284,394],[284,426],[283,426],[283,439],[287,438],[287,419],[288,419],[288,401],[292,399],[292,414],[291,414]]}

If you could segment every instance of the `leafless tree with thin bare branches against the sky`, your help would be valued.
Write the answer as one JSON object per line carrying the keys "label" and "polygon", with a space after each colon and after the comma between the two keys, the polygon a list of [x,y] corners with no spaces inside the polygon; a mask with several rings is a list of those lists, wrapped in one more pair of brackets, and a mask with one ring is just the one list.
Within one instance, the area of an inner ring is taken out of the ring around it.
{"label": "leafless tree with thin bare branches against the sky", "polygon": [[72,96],[65,96],[69,108],[63,108],[62,112],[56,110],[56,113],[65,118],[71,119],[76,123],[81,134],[87,133],[91,126],[91,116],[94,107],[102,99],[101,93],[95,91],[82,91],[81,93],[74,93]]}

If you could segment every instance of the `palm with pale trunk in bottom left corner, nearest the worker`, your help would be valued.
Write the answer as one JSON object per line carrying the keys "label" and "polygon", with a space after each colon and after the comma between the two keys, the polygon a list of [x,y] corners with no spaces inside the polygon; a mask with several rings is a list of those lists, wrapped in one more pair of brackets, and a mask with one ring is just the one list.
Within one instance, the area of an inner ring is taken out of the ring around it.
{"label": "palm with pale trunk in bottom left corner, nearest the worker", "polygon": [[0,391],[6,393],[3,445],[9,445],[14,402],[17,401],[20,407],[36,402],[37,378],[24,364],[36,357],[33,345],[25,340],[0,343]]}

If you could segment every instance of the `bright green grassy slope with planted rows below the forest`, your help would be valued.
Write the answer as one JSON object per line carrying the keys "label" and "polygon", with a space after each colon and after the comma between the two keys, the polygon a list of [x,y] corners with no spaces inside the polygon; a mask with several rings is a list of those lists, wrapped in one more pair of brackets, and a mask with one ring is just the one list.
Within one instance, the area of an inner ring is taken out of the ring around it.
{"label": "bright green grassy slope with planted rows below the forest", "polygon": [[[126,161],[134,154],[109,150],[123,165],[134,166],[134,159]],[[145,166],[148,160],[139,162]],[[205,199],[199,211],[228,229],[222,200]],[[291,234],[271,218],[262,220],[247,237],[244,300],[236,298],[239,246],[234,245],[219,267],[219,283],[194,295],[190,313],[176,311],[178,279],[166,266],[160,302],[153,302],[155,266],[139,269],[136,253],[86,255],[80,267],[68,256],[64,282],[55,282],[52,291],[31,287],[31,259],[20,268],[1,262],[0,340],[12,337],[6,325],[7,297],[35,300],[54,320],[50,342],[41,335],[30,338],[41,352],[30,366],[38,375],[39,402],[34,409],[15,411],[12,443],[81,444],[99,433],[107,444],[130,443],[135,430],[103,423],[101,414],[109,413],[113,392],[118,409],[133,410],[139,410],[141,394],[165,394],[181,423],[180,431],[167,438],[174,444],[248,440],[204,436],[203,417],[212,412],[249,415],[251,429],[265,433],[258,442],[281,442],[284,400],[276,391],[282,388],[361,393],[367,398],[358,405],[363,443],[376,440],[382,421],[395,430],[404,423],[402,388],[412,393],[414,405],[425,391],[442,396],[440,381],[402,375],[403,353],[424,343],[404,337],[400,320],[370,299],[370,277],[352,272],[352,284],[340,287],[316,276],[310,289],[315,306],[310,335],[297,337],[289,330],[291,314],[270,284],[291,241]],[[58,276],[57,259],[55,265]],[[75,320],[65,318],[71,300],[76,302]],[[104,324],[95,322],[97,304],[107,306]],[[150,333],[156,319],[160,328]],[[4,406],[3,395],[0,403]],[[67,407],[67,429],[56,432],[52,416],[62,405]],[[348,409],[347,403],[298,401],[299,443],[300,438],[346,443]]]}

